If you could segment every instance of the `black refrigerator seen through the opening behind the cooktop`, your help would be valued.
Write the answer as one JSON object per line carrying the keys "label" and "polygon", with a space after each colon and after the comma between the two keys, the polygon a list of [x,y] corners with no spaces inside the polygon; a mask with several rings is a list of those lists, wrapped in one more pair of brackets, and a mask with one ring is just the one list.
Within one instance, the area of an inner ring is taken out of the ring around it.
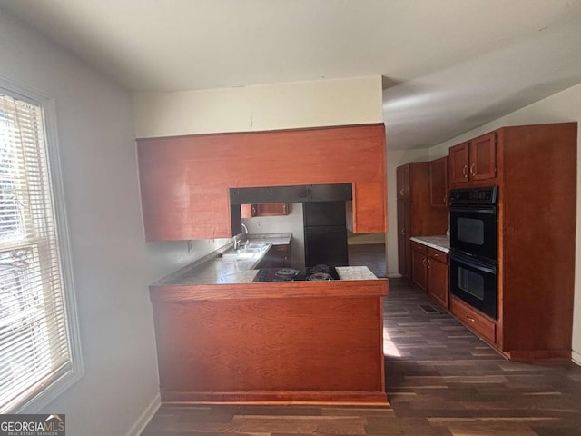
{"label": "black refrigerator seen through the opening behind the cooktop", "polygon": [[305,266],[324,263],[348,265],[345,202],[302,204],[305,229]]}

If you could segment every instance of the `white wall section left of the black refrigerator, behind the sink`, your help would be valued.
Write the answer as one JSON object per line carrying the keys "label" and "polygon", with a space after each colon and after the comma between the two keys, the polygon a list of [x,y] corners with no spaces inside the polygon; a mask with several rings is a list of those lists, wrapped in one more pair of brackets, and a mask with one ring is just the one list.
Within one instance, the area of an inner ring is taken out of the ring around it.
{"label": "white wall section left of the black refrigerator, behind the sink", "polygon": [[244,218],[249,233],[292,233],[291,265],[305,266],[305,236],[303,231],[302,203],[289,204],[289,214],[284,216],[255,216]]}

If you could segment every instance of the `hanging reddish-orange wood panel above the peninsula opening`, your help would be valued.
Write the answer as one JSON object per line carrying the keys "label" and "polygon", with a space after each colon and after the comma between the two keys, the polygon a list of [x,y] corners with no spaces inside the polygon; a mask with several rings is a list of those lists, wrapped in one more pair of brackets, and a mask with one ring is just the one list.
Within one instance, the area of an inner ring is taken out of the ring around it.
{"label": "hanging reddish-orange wood panel above the peninsula opening", "polygon": [[383,124],[137,141],[148,240],[231,237],[229,188],[353,183],[352,231],[386,231]]}

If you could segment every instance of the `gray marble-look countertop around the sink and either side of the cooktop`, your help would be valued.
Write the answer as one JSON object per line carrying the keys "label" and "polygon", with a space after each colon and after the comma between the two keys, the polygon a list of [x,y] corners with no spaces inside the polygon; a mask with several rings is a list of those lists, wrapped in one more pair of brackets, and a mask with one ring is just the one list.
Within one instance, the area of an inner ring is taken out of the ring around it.
{"label": "gray marble-look countertop around the sink and either side of the cooktop", "polygon": [[[152,286],[195,286],[208,284],[251,283],[258,270],[254,269],[261,262],[271,245],[291,243],[291,233],[248,234],[249,243],[264,244],[263,250],[251,257],[234,259],[229,257],[233,244],[208,254],[202,259],[172,272]],[[366,266],[342,266],[337,268],[341,280],[375,280],[377,277]]]}

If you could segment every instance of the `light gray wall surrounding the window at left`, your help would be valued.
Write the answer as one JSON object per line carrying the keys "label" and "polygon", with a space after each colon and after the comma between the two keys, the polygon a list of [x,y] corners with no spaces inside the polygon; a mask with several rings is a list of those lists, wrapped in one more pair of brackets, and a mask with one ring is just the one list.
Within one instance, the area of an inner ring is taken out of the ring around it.
{"label": "light gray wall surrounding the window at left", "polygon": [[67,434],[127,434],[159,395],[148,283],[224,241],[145,243],[130,94],[1,13],[0,60],[57,112],[85,375],[44,412]]}

